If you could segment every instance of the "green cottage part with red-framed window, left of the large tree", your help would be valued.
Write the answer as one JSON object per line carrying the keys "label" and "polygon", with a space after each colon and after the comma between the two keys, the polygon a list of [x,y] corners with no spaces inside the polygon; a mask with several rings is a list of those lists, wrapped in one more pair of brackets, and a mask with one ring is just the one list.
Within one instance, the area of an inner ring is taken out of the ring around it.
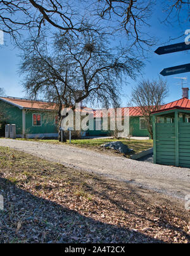
{"label": "green cottage part with red-framed window, left of the large tree", "polygon": [[1,97],[6,123],[16,125],[16,137],[58,137],[56,105],[23,98]]}

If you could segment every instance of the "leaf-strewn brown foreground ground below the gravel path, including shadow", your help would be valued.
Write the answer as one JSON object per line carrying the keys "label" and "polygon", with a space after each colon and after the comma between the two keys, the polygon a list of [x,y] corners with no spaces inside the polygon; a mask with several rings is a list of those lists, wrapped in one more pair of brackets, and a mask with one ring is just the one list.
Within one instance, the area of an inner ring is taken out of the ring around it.
{"label": "leaf-strewn brown foreground ground below the gravel path, including shadow", "polygon": [[184,202],[0,147],[1,243],[189,243]]}

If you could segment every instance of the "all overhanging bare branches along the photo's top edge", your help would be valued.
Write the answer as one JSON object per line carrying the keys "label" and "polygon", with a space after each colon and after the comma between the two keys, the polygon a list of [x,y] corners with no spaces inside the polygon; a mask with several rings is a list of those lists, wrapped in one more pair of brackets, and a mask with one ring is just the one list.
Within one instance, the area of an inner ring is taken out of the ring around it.
{"label": "all overhanging bare branches along the photo's top edge", "polygon": [[[151,46],[153,38],[143,34],[142,26],[148,25],[153,3],[154,0],[0,1],[0,29],[20,44],[20,36],[26,36],[27,31],[39,36],[44,30],[49,32],[50,27],[79,34],[84,29],[96,30],[92,24],[99,24],[109,34],[116,30],[127,32],[132,44]],[[89,17],[91,26],[84,27],[85,18]]]}

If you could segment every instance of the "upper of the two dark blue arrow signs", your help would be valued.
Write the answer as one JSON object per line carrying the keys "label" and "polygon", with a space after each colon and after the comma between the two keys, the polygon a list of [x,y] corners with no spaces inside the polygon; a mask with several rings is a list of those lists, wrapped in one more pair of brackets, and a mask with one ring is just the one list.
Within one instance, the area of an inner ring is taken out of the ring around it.
{"label": "upper of the two dark blue arrow signs", "polygon": [[156,49],[155,53],[158,55],[167,54],[167,53],[175,53],[177,51],[186,51],[190,50],[190,44],[179,43],[179,44],[170,44],[167,46],[162,46]]}

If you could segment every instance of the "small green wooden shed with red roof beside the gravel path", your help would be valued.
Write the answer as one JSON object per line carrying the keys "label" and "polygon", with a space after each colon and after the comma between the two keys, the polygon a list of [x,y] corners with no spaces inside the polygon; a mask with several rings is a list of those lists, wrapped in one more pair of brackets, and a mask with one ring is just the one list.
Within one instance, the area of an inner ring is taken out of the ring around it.
{"label": "small green wooden shed with red roof beside the gravel path", "polygon": [[[188,88],[183,88],[189,90]],[[190,100],[153,112],[154,163],[190,168]]]}

